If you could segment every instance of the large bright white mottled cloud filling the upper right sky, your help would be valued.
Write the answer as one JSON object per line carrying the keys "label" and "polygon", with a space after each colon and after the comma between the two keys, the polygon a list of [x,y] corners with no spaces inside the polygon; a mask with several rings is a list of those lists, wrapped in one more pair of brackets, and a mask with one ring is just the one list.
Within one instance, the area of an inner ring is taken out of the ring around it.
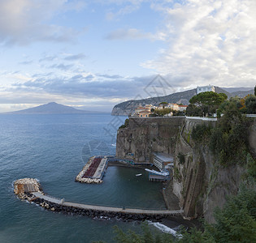
{"label": "large bright white mottled cloud filling the upper right sky", "polygon": [[[154,5],[156,6],[156,5]],[[168,47],[141,66],[187,79],[194,86],[254,86],[256,2],[251,0],[167,1],[155,7],[166,16]]]}

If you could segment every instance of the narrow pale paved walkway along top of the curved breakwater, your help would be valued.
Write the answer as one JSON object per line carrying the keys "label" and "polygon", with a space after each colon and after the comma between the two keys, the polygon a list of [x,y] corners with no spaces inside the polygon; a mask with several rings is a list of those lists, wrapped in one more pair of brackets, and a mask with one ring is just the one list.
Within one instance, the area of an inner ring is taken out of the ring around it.
{"label": "narrow pale paved walkway along top of the curved breakwater", "polygon": [[137,208],[129,208],[129,207],[126,207],[126,208],[105,207],[105,206],[95,206],[95,205],[89,205],[89,204],[70,203],[70,202],[64,202],[62,204],[62,199],[53,198],[38,192],[33,192],[32,194],[37,198],[42,198],[50,203],[57,203],[59,205],[63,205],[66,207],[76,207],[76,208],[82,208],[86,210],[120,212],[124,214],[137,214],[137,215],[180,215],[183,213],[183,210],[170,211],[170,210],[137,209]]}

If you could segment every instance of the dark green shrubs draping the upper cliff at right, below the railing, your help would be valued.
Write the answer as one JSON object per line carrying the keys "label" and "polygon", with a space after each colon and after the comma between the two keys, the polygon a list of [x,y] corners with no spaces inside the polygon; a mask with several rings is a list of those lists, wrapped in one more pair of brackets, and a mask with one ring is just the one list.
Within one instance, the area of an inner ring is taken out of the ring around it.
{"label": "dark green shrubs draping the upper cliff at right, below the railing", "polygon": [[[239,101],[240,104],[240,101]],[[223,117],[215,128],[205,124],[193,128],[191,137],[198,144],[209,145],[219,164],[246,164],[249,153],[248,137],[250,120],[242,115],[244,110],[236,99],[220,105]]]}

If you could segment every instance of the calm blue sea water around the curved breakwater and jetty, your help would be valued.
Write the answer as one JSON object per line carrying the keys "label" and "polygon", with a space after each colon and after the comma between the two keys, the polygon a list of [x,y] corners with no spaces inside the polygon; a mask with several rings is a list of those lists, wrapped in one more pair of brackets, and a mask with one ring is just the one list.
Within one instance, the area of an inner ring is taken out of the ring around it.
{"label": "calm blue sea water around the curved breakwater and jetty", "polygon": [[74,181],[90,156],[115,155],[116,123],[108,114],[0,115],[0,242],[114,242],[114,225],[138,228],[136,222],[63,215],[22,202],[12,182],[23,177],[37,178],[46,194],[66,201],[165,207],[162,185],[141,169],[109,167],[101,185]]}

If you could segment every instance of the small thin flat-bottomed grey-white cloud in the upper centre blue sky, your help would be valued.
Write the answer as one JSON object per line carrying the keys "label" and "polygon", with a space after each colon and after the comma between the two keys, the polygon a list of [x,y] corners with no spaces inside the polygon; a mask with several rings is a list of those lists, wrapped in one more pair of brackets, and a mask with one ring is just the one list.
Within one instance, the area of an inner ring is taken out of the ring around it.
{"label": "small thin flat-bottomed grey-white cloud in the upper centre blue sky", "polygon": [[118,29],[109,33],[106,36],[107,40],[164,40],[165,36],[162,33],[152,34],[149,32],[142,32],[137,28]]}

